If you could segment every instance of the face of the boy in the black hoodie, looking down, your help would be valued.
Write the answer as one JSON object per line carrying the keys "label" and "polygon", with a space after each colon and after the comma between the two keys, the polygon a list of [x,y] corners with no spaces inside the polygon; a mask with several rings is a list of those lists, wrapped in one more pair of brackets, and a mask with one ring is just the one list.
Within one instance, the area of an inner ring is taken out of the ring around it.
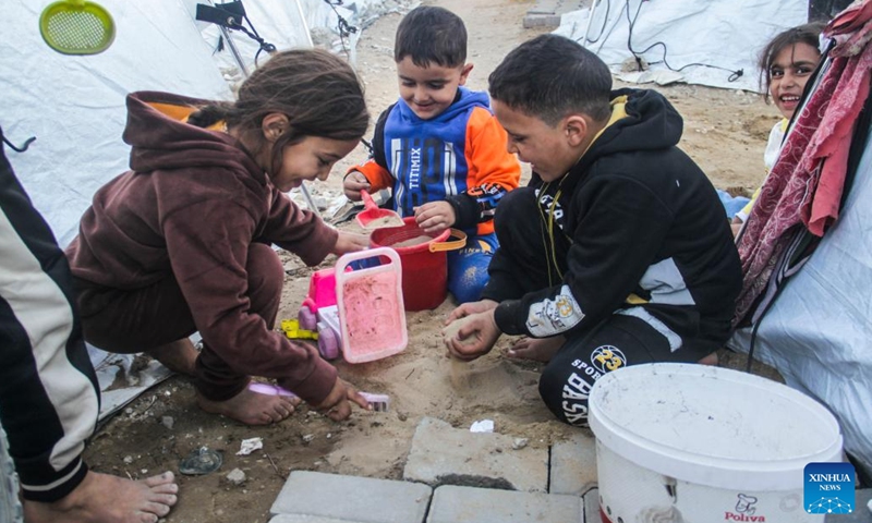
{"label": "face of the boy in the black hoodie, looking down", "polygon": [[506,149],[518,155],[520,161],[530,163],[543,181],[558,180],[578,161],[579,151],[569,139],[565,120],[550,126],[499,100],[491,100],[491,107],[508,133]]}

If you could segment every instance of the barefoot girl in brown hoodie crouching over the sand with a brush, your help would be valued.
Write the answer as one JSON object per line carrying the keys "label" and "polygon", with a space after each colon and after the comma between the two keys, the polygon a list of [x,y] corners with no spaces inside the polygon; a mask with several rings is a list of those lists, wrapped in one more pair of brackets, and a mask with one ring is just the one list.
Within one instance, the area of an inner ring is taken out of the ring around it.
{"label": "barefoot girl in brown hoodie crouching over the sand with a brush", "polygon": [[144,92],[126,105],[131,170],[95,194],[66,250],[85,339],[192,375],[202,409],[246,424],[281,421],[300,401],[249,390],[252,375],[336,421],[350,402],[365,408],[317,350],[272,330],[284,277],[272,244],[307,265],[367,246],[283,194],[325,180],[366,131],[352,69],[292,50],[255,71],[235,102]]}

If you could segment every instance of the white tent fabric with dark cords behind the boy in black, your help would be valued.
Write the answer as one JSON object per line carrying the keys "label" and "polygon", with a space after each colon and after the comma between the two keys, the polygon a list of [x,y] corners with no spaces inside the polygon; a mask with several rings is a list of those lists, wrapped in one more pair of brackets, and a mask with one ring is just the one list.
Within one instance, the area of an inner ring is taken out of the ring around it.
{"label": "white tent fabric with dark cords behind the boy in black", "polygon": [[[732,89],[759,90],[756,59],[777,33],[806,23],[808,0],[594,0],[590,10],[561,17],[557,34],[576,39],[594,51],[613,71],[632,57],[628,48],[630,20],[632,48],[640,52],[654,42],[666,46],[666,62],[674,69],[690,63],[743,70],[736,82],[720,69],[689,66],[685,82]],[[629,19],[628,19],[629,8]],[[637,12],[639,13],[637,16]],[[584,39],[588,32],[586,42]],[[593,40],[593,41],[591,41]],[[663,46],[641,54],[652,70],[666,70]]]}

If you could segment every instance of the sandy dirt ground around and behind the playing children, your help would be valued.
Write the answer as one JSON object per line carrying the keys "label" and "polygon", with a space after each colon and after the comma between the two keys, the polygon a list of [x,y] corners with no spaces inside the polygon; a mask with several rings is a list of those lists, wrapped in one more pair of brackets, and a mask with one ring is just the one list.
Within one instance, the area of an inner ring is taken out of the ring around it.
{"label": "sandy dirt ground around and behind the playing children", "polygon": [[[522,19],[533,0],[427,1],[448,8],[467,23],[469,61],[475,64],[469,85],[486,88],[487,74],[516,45],[542,29],[524,29]],[[392,61],[393,33],[400,14],[389,14],[367,27],[359,42],[356,65],[367,85],[373,115],[397,97]],[[620,85],[619,83],[616,83]],[[777,111],[753,93],[677,85],[658,87],[685,118],[681,147],[722,188],[751,191],[763,174],[762,155]],[[344,168],[365,158],[359,147],[325,183],[311,184],[319,199],[340,193]],[[350,226],[342,226],[350,227]],[[286,255],[288,278],[280,318],[296,316],[313,269]],[[324,267],[335,259],[328,259]],[[387,360],[350,365],[338,362],[339,374],[360,389],[391,397],[387,413],[355,412],[334,423],[302,406],[291,418],[264,427],[205,414],[194,404],[194,390],[173,377],[149,390],[114,416],[94,436],[86,460],[94,470],[144,477],[164,470],[179,471],[179,460],[201,447],[220,451],[223,465],[204,476],[179,475],[179,504],[167,522],[266,522],[269,508],[290,471],[400,478],[415,426],[423,416],[457,427],[476,421],[495,422],[495,430],[548,446],[567,437],[569,427],[553,421],[536,392],[537,366],[501,355],[511,340],[471,365],[452,366],[445,357],[439,329],[453,307],[447,301],[435,311],[410,313],[409,345]],[[741,365],[743,356],[734,360]],[[172,422],[165,418],[171,417]],[[240,441],[261,437],[263,450],[237,455]],[[241,469],[246,481],[231,485],[226,476]],[[337,492],[341,496],[341,492]]]}

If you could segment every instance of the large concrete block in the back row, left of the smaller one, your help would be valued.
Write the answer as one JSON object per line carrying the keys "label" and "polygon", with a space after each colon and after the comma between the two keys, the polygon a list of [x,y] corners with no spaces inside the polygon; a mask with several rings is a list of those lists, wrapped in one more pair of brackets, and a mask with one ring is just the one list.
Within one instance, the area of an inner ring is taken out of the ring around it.
{"label": "large concrete block in the back row, left of the smaller one", "polygon": [[514,438],[471,433],[425,417],[412,438],[403,478],[428,485],[463,485],[529,492],[547,491],[547,449],[514,450]]}

